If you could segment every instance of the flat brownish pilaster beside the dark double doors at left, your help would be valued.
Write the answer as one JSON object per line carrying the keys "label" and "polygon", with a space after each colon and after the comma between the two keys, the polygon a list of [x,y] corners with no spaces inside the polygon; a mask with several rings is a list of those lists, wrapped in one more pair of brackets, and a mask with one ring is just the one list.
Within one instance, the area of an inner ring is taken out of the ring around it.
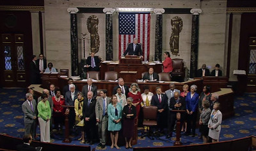
{"label": "flat brownish pilaster beside the dark double doors at left", "polygon": [[33,54],[38,56],[41,53],[39,12],[31,11],[30,13],[31,13]]}

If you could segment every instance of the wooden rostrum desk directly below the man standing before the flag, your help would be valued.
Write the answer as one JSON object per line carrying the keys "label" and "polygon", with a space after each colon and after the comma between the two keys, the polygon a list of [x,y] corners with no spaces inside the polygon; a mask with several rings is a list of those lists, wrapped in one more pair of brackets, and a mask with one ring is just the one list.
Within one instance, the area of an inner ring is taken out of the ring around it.
{"label": "wooden rostrum desk directly below the man standing before the flag", "polygon": [[[121,71],[137,71],[137,74],[134,75],[134,79],[142,79],[142,73],[148,72],[149,68],[154,68],[154,72],[160,73],[162,72],[162,64],[156,65],[141,65],[141,64],[109,64],[109,63],[100,63],[100,79],[104,79],[104,73],[107,71],[115,71],[118,74]],[[124,74],[119,74],[118,77],[122,77]],[[125,83],[127,81],[131,81],[131,77],[124,76]],[[136,81],[131,81],[135,83]]]}

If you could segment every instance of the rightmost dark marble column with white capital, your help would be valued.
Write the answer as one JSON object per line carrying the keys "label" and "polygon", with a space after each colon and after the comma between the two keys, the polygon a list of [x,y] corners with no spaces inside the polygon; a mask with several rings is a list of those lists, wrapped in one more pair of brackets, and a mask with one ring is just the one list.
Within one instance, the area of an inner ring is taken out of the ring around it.
{"label": "rightmost dark marble column with white capital", "polygon": [[191,31],[191,52],[190,52],[190,71],[189,77],[196,76],[198,64],[198,29],[199,29],[199,14],[202,13],[201,9],[191,9],[192,15],[192,31]]}

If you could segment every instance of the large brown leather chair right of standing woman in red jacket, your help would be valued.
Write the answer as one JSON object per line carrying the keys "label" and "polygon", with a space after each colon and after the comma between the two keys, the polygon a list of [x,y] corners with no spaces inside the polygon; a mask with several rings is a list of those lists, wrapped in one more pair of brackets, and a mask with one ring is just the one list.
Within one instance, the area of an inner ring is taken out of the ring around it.
{"label": "large brown leather chair right of standing woman in red jacket", "polygon": [[172,59],[173,70],[171,72],[172,77],[185,77],[184,61],[179,58]]}

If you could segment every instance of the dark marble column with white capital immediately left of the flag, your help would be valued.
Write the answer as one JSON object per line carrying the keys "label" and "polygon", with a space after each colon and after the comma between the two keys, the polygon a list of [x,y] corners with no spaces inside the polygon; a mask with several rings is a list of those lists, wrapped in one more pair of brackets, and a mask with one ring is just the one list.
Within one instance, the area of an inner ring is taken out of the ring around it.
{"label": "dark marble column with white capital immediately left of the flag", "polygon": [[113,60],[113,12],[114,8],[104,8],[106,13],[106,60]]}

